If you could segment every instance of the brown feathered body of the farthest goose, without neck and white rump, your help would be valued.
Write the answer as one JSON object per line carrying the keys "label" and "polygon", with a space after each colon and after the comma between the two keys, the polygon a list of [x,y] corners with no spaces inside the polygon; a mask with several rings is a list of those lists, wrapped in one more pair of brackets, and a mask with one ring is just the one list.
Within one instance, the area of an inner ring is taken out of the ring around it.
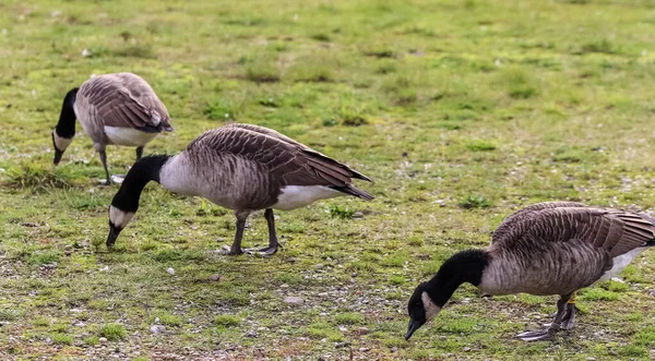
{"label": "brown feathered body of the farthest goose, without neck and white rump", "polygon": [[106,74],[84,82],[74,110],[96,143],[111,143],[106,128],[134,129],[153,135],[172,130],[164,103],[143,79],[132,73]]}

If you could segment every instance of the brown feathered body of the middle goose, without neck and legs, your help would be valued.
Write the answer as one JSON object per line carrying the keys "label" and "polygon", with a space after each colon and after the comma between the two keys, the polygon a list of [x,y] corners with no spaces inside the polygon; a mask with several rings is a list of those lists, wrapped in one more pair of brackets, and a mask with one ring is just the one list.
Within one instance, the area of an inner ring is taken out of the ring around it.
{"label": "brown feathered body of the middle goose, without neck and legs", "polygon": [[306,202],[281,209],[355,189],[350,185],[352,169],[336,161],[317,160],[313,153],[305,152],[309,147],[287,140],[277,132],[246,124],[207,131],[165,167],[162,184],[233,209],[276,207],[289,186],[314,186],[317,192]]}

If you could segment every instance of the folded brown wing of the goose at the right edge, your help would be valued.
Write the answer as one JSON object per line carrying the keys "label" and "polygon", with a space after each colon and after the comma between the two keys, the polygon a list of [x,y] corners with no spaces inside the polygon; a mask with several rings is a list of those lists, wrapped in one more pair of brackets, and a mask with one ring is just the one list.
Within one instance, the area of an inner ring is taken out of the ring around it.
{"label": "folded brown wing of the goose at the right edge", "polygon": [[642,216],[614,208],[549,207],[512,224],[495,243],[510,246],[522,239],[568,242],[577,239],[607,250],[611,257],[655,239],[655,226]]}

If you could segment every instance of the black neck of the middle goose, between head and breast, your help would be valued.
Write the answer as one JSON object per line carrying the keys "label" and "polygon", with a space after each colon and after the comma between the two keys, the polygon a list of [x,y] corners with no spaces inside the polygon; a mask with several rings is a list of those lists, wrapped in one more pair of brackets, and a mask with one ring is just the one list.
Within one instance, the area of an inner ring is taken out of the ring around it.
{"label": "black neck of the middle goose, between head and breast", "polygon": [[150,181],[159,182],[159,171],[168,158],[168,155],[151,155],[136,160],[114,196],[111,205],[123,212],[136,212],[143,188]]}

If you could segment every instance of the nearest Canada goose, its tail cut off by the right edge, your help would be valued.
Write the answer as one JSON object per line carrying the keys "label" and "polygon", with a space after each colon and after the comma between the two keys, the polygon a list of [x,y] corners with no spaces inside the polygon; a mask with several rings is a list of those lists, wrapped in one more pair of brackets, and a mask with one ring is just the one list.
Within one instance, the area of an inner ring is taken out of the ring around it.
{"label": "nearest Canada goose, its tail cut off by the right edge", "polygon": [[526,341],[548,339],[573,327],[576,290],[618,275],[648,246],[655,246],[655,218],[647,215],[573,202],[534,204],[503,220],[486,250],[456,253],[416,288],[405,338],[469,282],[489,294],[559,294],[549,326],[517,335]]}

